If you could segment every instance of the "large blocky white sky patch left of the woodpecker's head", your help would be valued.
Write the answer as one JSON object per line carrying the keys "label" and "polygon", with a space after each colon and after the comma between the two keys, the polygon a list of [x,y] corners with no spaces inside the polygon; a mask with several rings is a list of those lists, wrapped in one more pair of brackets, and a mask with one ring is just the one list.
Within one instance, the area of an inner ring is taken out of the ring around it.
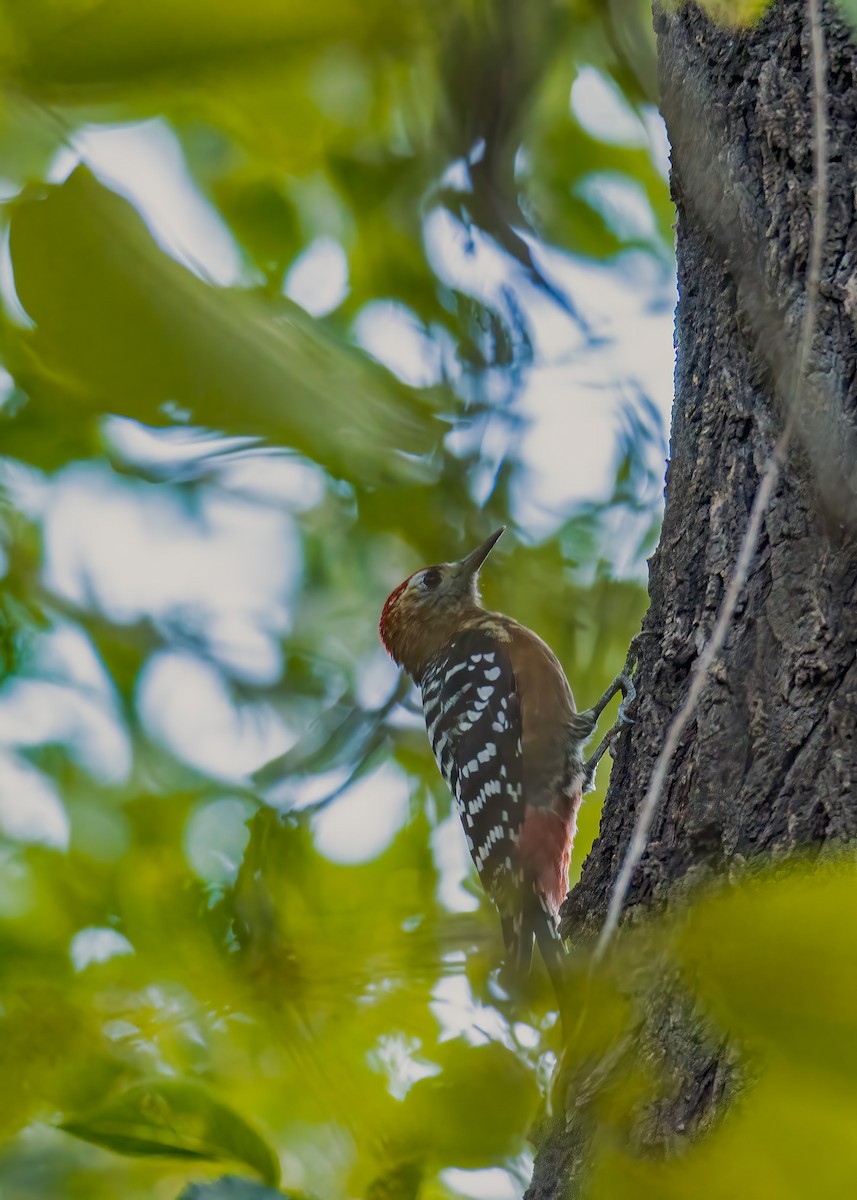
{"label": "large blocky white sky patch left of the woodpecker's head", "polygon": [[47,583],[119,622],[179,620],[228,668],[272,682],[300,582],[293,521],[217,488],[196,499],[187,508],[169,487],[66,468],[44,516]]}

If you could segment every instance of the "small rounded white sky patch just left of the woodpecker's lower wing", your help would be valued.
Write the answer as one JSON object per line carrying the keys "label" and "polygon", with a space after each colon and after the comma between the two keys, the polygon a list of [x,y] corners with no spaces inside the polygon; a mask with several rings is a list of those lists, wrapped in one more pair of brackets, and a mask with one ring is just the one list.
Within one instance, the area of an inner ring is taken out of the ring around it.
{"label": "small rounded white sky patch just left of the woodpecker's lower wing", "polygon": [[386,763],[312,818],[316,846],[334,863],[364,863],[390,845],[409,815],[408,780]]}

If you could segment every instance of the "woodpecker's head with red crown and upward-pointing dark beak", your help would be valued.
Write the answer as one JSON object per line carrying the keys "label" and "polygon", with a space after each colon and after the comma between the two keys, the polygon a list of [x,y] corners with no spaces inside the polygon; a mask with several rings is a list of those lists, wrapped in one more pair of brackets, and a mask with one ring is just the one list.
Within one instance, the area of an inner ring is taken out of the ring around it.
{"label": "woodpecker's head with red crown and upward-pointing dark beak", "polygon": [[479,568],[505,526],[457,563],[424,566],[386,598],[380,640],[386,653],[419,682],[432,656],[481,608]]}

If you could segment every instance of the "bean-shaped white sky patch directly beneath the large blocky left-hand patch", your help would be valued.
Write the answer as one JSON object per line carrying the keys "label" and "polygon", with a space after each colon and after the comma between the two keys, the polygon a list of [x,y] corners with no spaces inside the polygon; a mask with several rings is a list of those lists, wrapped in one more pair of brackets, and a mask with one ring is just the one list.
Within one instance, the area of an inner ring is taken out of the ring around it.
{"label": "bean-shaped white sky patch directly beneath the large blocky left-hand patch", "polygon": [[236,707],[220,671],[191,654],[151,658],[137,697],[157,740],[191,766],[234,784],[282,754],[290,740],[270,706]]}

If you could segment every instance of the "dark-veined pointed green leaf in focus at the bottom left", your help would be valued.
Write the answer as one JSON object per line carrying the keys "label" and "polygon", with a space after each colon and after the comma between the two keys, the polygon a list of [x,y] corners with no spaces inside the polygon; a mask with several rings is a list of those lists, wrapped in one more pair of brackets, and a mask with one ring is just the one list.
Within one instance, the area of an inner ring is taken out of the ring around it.
{"label": "dark-veined pointed green leaf in focus at the bottom left", "polygon": [[244,1117],[194,1084],[155,1080],[65,1121],[66,1133],[118,1154],[245,1163],[276,1184],[276,1157]]}

